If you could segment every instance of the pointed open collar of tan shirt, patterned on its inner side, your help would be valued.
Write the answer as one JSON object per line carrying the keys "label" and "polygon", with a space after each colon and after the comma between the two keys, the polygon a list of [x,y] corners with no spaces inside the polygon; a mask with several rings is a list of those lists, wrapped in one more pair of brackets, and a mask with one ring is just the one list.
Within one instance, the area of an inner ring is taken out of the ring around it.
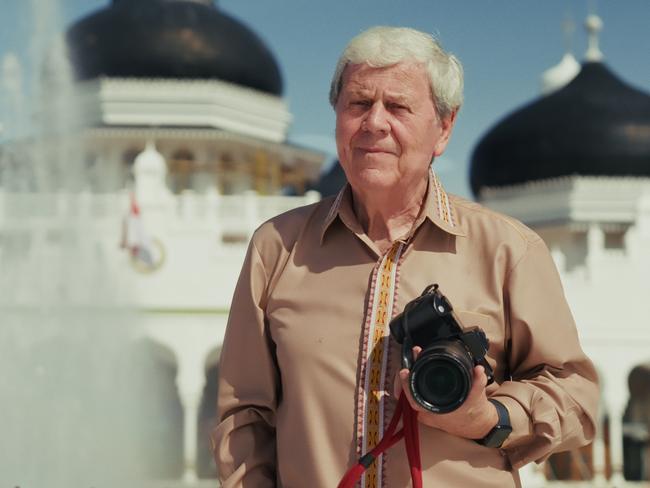
{"label": "pointed open collar of tan shirt, patterned on its inner side", "polygon": [[[352,209],[352,188],[350,187],[350,183],[346,183],[341,188],[341,191],[339,191],[332,202],[330,210],[323,221],[320,235],[321,244],[323,243],[327,229],[332,225],[336,217],[339,217],[351,231],[363,233],[363,229],[361,229],[361,225]],[[458,213],[433,169],[429,171],[429,185],[425,197],[424,212],[420,213],[411,234],[417,230],[425,219],[448,234],[455,236],[466,235],[458,221]]]}

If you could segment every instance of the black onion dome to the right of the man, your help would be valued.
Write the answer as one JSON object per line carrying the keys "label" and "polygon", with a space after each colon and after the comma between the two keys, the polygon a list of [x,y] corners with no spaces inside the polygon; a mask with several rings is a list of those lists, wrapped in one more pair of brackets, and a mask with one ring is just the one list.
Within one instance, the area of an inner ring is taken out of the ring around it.
{"label": "black onion dome to the right of the man", "polygon": [[474,150],[470,183],[478,195],[574,174],[650,176],[650,95],[601,63],[493,127]]}

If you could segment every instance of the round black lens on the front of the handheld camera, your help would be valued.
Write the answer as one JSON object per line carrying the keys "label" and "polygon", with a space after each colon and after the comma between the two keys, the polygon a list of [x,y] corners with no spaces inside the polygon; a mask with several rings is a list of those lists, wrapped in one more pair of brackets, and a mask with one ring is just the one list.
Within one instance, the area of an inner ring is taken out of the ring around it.
{"label": "round black lens on the front of the handheld camera", "polygon": [[444,341],[422,351],[413,364],[413,398],[436,413],[457,409],[472,386],[472,359],[459,341]]}

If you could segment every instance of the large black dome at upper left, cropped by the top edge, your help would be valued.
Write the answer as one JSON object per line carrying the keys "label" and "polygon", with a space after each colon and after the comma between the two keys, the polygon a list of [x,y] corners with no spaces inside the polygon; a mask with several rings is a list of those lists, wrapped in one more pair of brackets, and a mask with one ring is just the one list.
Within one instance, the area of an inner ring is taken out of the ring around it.
{"label": "large black dome at upper left, cropped by the top edge", "polygon": [[282,94],[264,42],[210,0],[114,0],[73,24],[67,43],[78,80],[217,78]]}

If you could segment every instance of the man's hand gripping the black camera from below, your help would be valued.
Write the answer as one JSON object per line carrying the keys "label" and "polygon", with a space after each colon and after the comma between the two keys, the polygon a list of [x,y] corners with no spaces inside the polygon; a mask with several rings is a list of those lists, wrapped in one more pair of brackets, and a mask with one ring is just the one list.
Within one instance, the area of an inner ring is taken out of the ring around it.
{"label": "man's hand gripping the black camera from below", "polygon": [[[417,358],[421,351],[422,348],[414,347],[413,357]],[[458,437],[482,439],[499,421],[496,407],[488,401],[485,394],[487,376],[483,366],[474,368],[472,388],[465,402],[449,413],[433,413],[418,405],[411,396],[408,375],[409,370],[402,369],[395,376],[395,396],[399,398],[400,393],[404,392],[413,410],[418,412],[418,421],[421,423]]]}

